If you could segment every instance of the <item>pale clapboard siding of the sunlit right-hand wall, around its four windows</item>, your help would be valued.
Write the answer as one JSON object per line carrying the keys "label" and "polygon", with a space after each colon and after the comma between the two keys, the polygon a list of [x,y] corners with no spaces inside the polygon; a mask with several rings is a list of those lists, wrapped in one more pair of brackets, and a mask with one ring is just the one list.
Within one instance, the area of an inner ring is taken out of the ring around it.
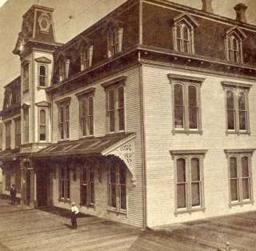
{"label": "pale clapboard siding of the sunlit right-hand wall, around its four windows", "polygon": [[[202,135],[172,133],[173,107],[170,80],[167,74],[182,74],[205,78],[201,88]],[[226,135],[225,97],[222,81],[253,84],[249,93],[250,135]],[[224,149],[255,148],[256,86],[254,82],[186,73],[172,69],[144,66],[146,181],[148,225],[189,221],[228,213],[256,209],[255,205],[229,207],[227,160]],[[174,161],[170,150],[207,149],[204,159],[204,188],[206,211],[174,216]],[[253,176],[256,175],[255,153],[252,157]],[[254,198],[256,181],[253,182]]]}

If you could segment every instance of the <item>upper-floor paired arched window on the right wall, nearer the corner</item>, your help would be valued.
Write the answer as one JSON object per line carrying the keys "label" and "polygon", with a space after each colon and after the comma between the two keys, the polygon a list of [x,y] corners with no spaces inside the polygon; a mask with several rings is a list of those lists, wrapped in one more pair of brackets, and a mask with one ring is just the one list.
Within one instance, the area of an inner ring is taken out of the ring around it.
{"label": "upper-floor paired arched window on the right wall, nearer the corner", "polygon": [[200,87],[202,79],[183,79],[169,75],[173,85],[174,132],[201,132]]}

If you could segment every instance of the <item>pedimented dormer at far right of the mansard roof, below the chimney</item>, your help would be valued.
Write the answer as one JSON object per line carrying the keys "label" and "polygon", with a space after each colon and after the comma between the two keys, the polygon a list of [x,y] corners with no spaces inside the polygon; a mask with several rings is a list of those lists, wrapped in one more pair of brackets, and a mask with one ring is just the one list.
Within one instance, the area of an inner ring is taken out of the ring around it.
{"label": "pedimented dormer at far right of the mansard roof, below the chimney", "polygon": [[246,34],[238,27],[233,27],[226,32],[225,46],[226,59],[234,63],[242,63],[242,40]]}

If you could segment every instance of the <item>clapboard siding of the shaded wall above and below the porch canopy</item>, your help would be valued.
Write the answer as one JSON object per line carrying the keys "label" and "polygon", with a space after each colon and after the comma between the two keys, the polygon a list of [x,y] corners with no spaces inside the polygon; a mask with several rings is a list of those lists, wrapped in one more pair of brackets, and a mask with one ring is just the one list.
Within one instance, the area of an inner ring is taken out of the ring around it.
{"label": "clapboard siding of the shaded wall above and below the porch canopy", "polygon": [[[81,211],[102,217],[113,219],[114,221],[122,221],[131,225],[142,226],[143,223],[143,205],[142,205],[142,145],[141,145],[141,114],[140,114],[140,85],[139,85],[139,68],[135,66],[130,70],[122,71],[119,74],[102,79],[90,87],[95,88],[94,93],[94,132],[95,137],[106,135],[106,93],[102,87],[102,83],[111,79],[126,76],[126,132],[136,133],[134,140],[135,153],[135,178],[136,185],[131,183],[131,175],[128,172],[127,184],[127,215],[117,214],[107,211],[107,170],[102,169],[102,182],[98,181],[98,172],[95,177],[95,199],[94,209],[82,207]],[[66,96],[54,98],[53,100],[53,141],[58,141],[58,106],[56,101],[65,97],[70,97],[70,140],[79,138],[79,104],[75,93],[82,89],[66,94]],[[79,175],[79,173],[78,173]],[[78,176],[77,176],[78,177]],[[71,199],[80,200],[79,177],[77,181],[71,181]],[[61,207],[69,207],[62,202],[58,202],[58,178],[54,180],[54,205]]]}

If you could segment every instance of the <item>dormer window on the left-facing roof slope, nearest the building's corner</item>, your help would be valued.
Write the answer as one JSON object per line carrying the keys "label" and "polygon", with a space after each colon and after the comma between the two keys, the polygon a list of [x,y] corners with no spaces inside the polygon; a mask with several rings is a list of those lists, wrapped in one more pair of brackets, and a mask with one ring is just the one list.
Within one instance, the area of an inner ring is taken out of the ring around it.
{"label": "dormer window on the left-facing roof slope, nearest the building's corner", "polygon": [[122,52],[122,27],[114,27],[107,34],[108,57]]}

